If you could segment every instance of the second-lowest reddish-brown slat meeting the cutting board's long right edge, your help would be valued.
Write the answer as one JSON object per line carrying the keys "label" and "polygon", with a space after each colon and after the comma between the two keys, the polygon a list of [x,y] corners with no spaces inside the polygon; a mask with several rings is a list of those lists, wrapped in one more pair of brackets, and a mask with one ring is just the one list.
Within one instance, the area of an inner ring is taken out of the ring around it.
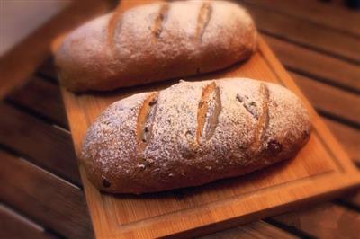
{"label": "second-lowest reddish-brown slat meeting the cutting board's long right edge", "polygon": [[291,75],[317,110],[327,111],[360,126],[360,95],[348,93],[303,75]]}

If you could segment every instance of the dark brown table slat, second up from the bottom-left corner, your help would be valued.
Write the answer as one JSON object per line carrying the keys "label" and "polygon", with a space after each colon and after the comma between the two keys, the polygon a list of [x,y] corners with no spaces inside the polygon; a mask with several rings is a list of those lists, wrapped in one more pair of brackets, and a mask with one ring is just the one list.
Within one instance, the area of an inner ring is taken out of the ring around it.
{"label": "dark brown table slat, second up from the bottom-left corner", "polygon": [[0,199],[69,238],[93,235],[82,190],[0,151]]}

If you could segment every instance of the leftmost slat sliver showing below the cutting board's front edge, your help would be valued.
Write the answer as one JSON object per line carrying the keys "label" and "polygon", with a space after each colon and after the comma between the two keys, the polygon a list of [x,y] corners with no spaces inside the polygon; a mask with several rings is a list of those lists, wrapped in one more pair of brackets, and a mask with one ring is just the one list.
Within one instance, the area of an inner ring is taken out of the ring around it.
{"label": "leftmost slat sliver showing below the cutting board's front edge", "polygon": [[284,230],[258,221],[243,226],[237,226],[228,230],[220,231],[211,235],[199,237],[199,239],[235,239],[235,238],[297,238]]}

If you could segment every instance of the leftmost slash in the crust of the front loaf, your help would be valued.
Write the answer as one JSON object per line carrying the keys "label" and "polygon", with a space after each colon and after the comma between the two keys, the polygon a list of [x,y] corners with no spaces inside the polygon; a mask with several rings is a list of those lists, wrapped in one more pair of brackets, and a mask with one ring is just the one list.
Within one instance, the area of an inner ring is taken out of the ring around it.
{"label": "leftmost slash in the crust of the front loaf", "polygon": [[139,153],[143,152],[152,136],[152,127],[157,112],[157,96],[158,93],[150,94],[139,110],[136,128]]}

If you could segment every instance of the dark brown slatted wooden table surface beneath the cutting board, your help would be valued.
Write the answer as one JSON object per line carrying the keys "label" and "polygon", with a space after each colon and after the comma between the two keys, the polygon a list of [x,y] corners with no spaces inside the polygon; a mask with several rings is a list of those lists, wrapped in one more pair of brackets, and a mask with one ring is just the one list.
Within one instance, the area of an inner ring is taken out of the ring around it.
{"label": "dark brown slatted wooden table surface beneath the cutting board", "polygon": [[[302,92],[360,166],[360,12],[338,1],[242,2]],[[0,238],[92,237],[51,58],[30,79],[0,102]],[[359,226],[360,191],[355,191],[204,238],[356,238]]]}

